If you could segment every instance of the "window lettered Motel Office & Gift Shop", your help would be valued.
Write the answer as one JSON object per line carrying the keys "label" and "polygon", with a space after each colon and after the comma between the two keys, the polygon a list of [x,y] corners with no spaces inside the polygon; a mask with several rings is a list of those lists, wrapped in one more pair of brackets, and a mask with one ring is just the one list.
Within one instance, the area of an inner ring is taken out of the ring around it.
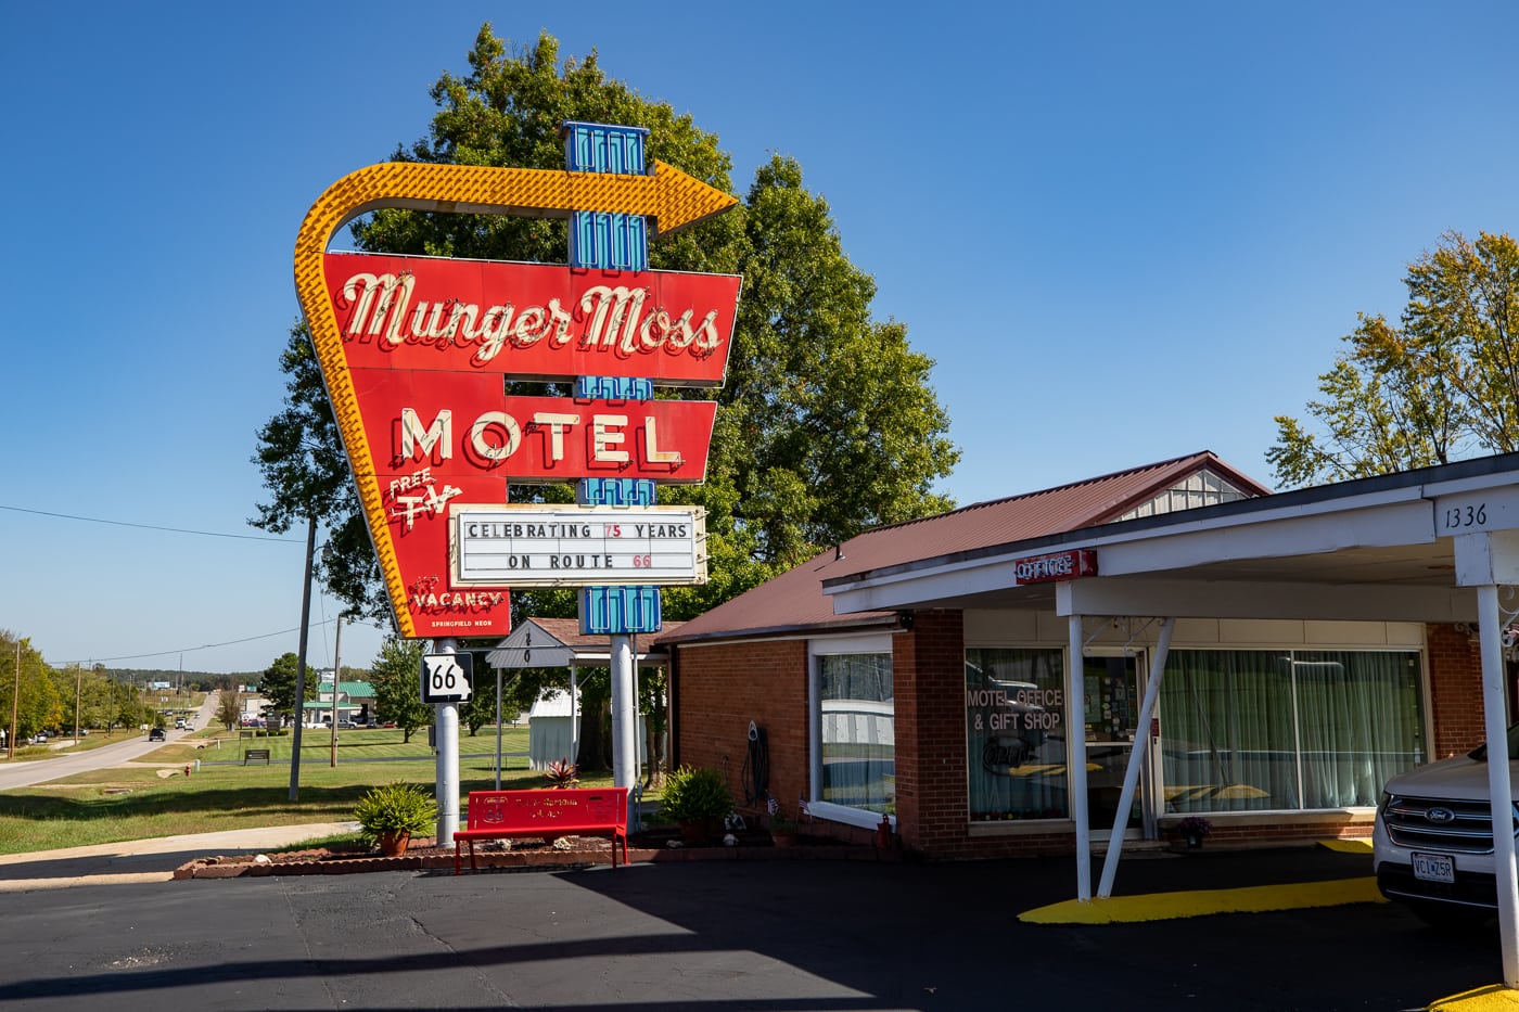
{"label": "window lettered Motel Office & Gift Shop", "polygon": [[1065,819],[1065,652],[965,652],[966,780],[972,822]]}

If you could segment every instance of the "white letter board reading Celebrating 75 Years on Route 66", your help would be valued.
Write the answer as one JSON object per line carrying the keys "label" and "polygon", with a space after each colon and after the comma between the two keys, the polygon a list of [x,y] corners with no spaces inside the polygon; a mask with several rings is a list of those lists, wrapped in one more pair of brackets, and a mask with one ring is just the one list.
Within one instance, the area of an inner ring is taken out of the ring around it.
{"label": "white letter board reading Celebrating 75 Years on Route 66", "polygon": [[456,587],[705,583],[700,506],[456,506]]}

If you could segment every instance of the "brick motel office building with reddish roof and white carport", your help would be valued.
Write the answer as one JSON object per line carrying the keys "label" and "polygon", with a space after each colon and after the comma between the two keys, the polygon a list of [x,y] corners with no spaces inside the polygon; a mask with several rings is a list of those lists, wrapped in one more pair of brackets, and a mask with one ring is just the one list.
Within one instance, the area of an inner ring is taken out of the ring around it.
{"label": "brick motel office building with reddish roof and white carport", "polygon": [[870,530],[655,643],[673,761],[819,836],[1366,837],[1388,776],[1484,738],[1510,583],[1519,454],[1270,494],[1205,451]]}

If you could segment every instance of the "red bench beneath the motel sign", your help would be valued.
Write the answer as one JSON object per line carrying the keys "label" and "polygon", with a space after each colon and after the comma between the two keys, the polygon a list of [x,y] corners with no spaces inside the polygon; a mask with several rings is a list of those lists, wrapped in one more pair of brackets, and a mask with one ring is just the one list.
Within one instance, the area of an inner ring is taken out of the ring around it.
{"label": "red bench beneath the motel sign", "polygon": [[571,787],[568,790],[471,790],[469,822],[454,831],[454,874],[463,874],[463,852],[469,845],[469,868],[478,869],[475,840],[503,840],[516,836],[554,839],[561,836],[609,836],[612,868],[617,843],[627,863],[627,787]]}

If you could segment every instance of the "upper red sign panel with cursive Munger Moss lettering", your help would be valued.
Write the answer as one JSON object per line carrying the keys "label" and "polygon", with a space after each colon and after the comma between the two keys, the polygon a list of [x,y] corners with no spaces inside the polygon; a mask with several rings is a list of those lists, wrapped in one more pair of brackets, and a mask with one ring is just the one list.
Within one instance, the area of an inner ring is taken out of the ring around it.
{"label": "upper red sign panel with cursive Munger Moss lettering", "polygon": [[325,254],[349,368],[722,386],[738,275]]}

